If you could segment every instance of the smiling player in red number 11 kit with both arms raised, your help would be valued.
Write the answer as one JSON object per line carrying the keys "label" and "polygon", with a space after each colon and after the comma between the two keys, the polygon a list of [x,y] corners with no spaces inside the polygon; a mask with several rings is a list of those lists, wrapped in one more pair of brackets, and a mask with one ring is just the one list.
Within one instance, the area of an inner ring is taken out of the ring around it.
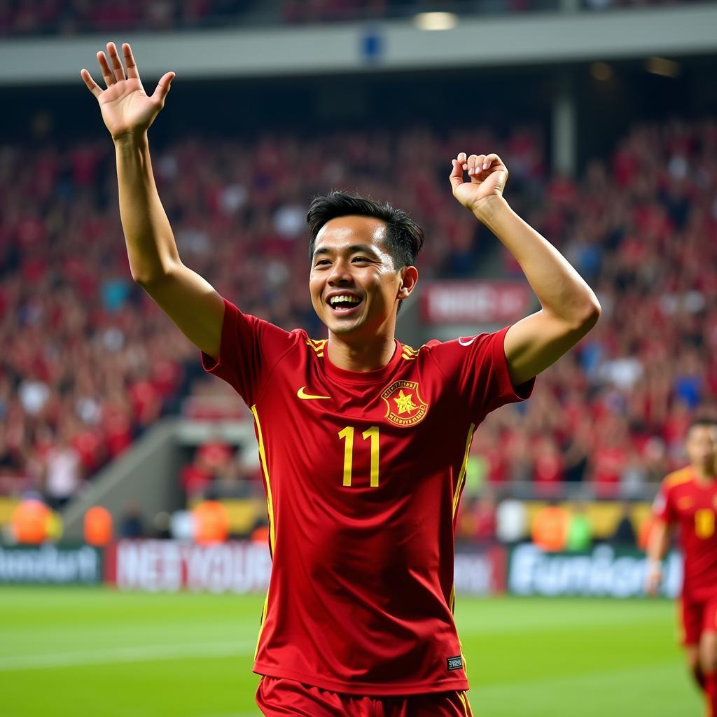
{"label": "smiling player in red number 11 kit with both arms raised", "polygon": [[82,78],[115,142],[132,276],[254,417],[272,554],[257,704],[270,717],[470,715],[453,551],[473,432],[528,397],[597,321],[597,298],[503,199],[500,158],[461,152],[455,199],[513,252],[541,311],[496,333],[404,345],[396,315],[416,287],[422,229],[332,192],[308,211],[308,288],[328,338],[242,313],[181,262],[153,181],[147,130],[174,74],[148,96],[122,52],[126,77],[110,43],[98,53],[107,89]]}

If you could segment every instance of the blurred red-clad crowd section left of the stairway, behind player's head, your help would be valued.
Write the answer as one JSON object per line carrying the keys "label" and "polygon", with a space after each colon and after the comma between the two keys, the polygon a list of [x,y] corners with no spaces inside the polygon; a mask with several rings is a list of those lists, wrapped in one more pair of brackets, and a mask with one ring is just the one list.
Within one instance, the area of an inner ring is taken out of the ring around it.
{"label": "blurred red-clad crowd section left of the stairway, behind player's head", "polygon": [[[498,145],[528,171],[541,165],[533,134]],[[476,143],[496,146],[480,131],[189,138],[154,166],[183,260],[248,312],[318,336],[308,198],[348,186],[392,199],[442,237],[427,247],[424,275],[466,275],[475,227],[446,196],[441,170],[452,146]],[[178,412],[201,374],[196,349],[131,279],[116,191],[105,138],[0,148],[0,493],[42,488],[62,505],[162,412]],[[195,389],[222,392],[219,381]]]}

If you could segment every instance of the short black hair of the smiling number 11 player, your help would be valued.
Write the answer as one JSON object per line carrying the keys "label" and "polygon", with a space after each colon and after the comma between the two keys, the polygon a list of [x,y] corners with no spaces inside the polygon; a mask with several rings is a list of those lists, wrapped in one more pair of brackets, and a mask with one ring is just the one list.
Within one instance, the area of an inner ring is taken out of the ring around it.
{"label": "short black hair of the smiling number 11 player", "polygon": [[[306,214],[311,232],[309,261],[313,259],[316,236],[326,222],[336,217],[374,217],[386,222],[386,249],[394,259],[394,269],[416,263],[418,252],[423,246],[423,229],[403,209],[391,206],[387,201],[376,201],[358,194],[346,194],[333,189],[326,196],[315,196]],[[399,300],[397,313],[403,300]]]}

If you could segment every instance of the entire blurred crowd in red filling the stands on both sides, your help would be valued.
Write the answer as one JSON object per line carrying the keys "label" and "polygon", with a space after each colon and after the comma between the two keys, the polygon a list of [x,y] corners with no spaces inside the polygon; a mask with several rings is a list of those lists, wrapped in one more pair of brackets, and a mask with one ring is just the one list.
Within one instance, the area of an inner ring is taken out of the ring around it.
{"label": "entire blurred crowd in red filling the stands on both sides", "polygon": [[[154,166],[184,262],[247,312],[320,337],[306,288],[308,198],[340,186],[388,199],[424,226],[424,279],[470,277],[500,245],[450,196],[446,157],[463,147],[500,153],[511,204],[604,310],[527,404],[483,424],[473,485],[638,493],[680,465],[695,411],[715,410],[717,123],[637,127],[575,182],[547,174],[532,127],[506,138],[484,128],[186,138]],[[131,280],[113,163],[104,138],[0,147],[1,493],[42,488],[62,505],[186,395],[231,394],[201,376],[196,349]],[[237,465],[225,480],[250,475]],[[187,488],[214,478],[201,466],[190,474]]]}

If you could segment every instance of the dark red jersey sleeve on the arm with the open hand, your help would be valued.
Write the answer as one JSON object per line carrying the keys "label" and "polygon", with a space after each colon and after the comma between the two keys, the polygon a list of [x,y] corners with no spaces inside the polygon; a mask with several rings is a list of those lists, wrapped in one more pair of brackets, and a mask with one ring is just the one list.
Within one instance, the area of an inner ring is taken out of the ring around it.
{"label": "dark red jersey sleeve on the arm with the open hand", "polygon": [[298,333],[245,314],[224,299],[224,320],[219,359],[200,352],[201,366],[208,374],[227,381],[247,406],[252,406],[275,366],[298,341]]}

